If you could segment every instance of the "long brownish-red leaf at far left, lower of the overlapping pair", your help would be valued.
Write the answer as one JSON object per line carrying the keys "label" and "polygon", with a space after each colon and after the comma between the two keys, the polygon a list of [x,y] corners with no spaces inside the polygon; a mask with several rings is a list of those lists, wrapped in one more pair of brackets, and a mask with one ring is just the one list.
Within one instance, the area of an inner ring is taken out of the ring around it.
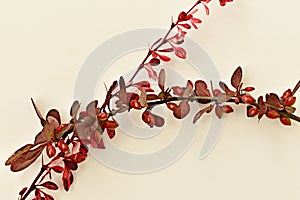
{"label": "long brownish-red leaf at far left, lower of the overlapping pair", "polygon": [[25,153],[18,156],[11,163],[11,171],[18,172],[31,165],[41,155],[45,146],[46,145],[40,145],[38,148],[26,151]]}

